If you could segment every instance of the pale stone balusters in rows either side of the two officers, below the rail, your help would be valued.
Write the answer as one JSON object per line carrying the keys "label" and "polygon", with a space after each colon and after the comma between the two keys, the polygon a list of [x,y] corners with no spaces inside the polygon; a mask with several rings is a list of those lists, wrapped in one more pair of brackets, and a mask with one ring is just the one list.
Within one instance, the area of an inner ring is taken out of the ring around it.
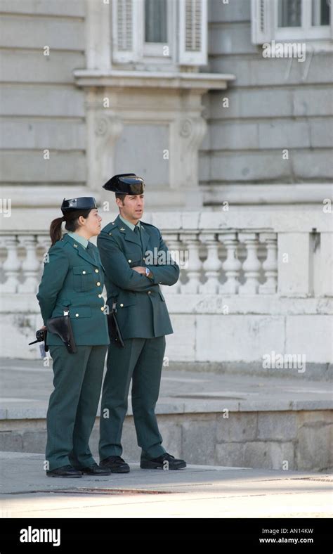
{"label": "pale stone balusters in rows either side of the two officers, below the rail", "polygon": [[[170,294],[277,292],[277,233],[185,230],[165,231],[163,236],[172,260],[181,266],[181,279],[168,288]],[[36,293],[50,244],[46,233],[2,233],[1,292]]]}

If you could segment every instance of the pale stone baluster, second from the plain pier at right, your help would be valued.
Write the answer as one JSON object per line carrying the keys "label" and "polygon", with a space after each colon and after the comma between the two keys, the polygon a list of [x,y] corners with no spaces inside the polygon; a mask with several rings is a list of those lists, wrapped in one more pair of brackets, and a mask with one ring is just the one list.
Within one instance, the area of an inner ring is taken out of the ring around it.
{"label": "pale stone baluster, second from the plain pier at right", "polygon": [[240,242],[244,243],[247,249],[242,269],[244,271],[245,283],[240,287],[241,295],[256,295],[259,291],[259,276],[261,263],[257,255],[259,245],[258,233],[239,233]]}

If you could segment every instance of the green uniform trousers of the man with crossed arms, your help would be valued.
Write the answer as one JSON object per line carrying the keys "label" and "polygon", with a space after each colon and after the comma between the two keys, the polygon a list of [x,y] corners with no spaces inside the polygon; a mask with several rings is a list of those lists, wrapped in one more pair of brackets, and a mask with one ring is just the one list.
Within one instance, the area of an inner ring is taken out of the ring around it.
{"label": "green uniform trousers of the man with crossed arms", "polygon": [[165,336],[126,339],[124,343],[124,348],[114,342],[108,347],[100,407],[100,460],[122,456],[122,427],[131,379],[133,419],[138,446],[142,449],[141,460],[157,458],[166,452],[155,416]]}

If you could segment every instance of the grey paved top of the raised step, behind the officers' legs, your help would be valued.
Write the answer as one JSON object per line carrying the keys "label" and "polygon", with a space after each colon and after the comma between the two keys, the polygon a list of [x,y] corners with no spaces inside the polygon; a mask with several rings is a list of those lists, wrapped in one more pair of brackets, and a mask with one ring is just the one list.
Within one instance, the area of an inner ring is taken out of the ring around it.
{"label": "grey paved top of the raised step, behind the officers' legs", "polygon": [[[221,406],[241,411],[332,408],[330,382],[307,380],[305,374],[293,372],[291,378],[279,378],[165,368],[157,413],[221,411]],[[18,418],[27,411],[45,417],[52,380],[52,367],[44,368],[41,361],[0,359],[0,413],[6,410],[2,417]]]}

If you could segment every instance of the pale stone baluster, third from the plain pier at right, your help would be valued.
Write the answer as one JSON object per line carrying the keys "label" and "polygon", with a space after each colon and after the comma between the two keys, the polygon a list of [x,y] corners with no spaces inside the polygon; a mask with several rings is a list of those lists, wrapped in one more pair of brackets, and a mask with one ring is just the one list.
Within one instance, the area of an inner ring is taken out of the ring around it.
{"label": "pale stone baluster, third from the plain pier at right", "polygon": [[218,233],[218,240],[223,243],[227,250],[226,260],[222,267],[226,273],[226,283],[220,287],[220,292],[228,295],[237,295],[240,286],[240,269],[242,264],[237,258],[237,233]]}

